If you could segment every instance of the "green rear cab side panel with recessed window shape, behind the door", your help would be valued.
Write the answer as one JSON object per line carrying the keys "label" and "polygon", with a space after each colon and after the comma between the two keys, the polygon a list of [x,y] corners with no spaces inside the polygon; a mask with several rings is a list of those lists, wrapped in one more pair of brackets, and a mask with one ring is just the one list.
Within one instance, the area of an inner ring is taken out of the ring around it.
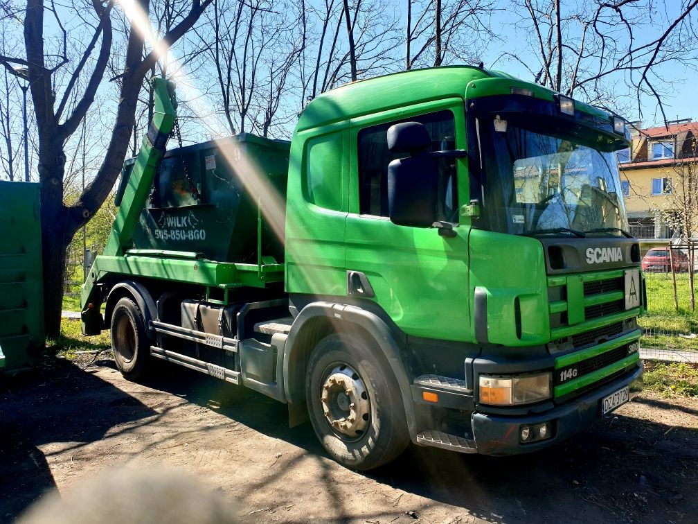
{"label": "green rear cab side panel with recessed window shape, behind the door", "polygon": [[346,295],[349,124],[299,131],[286,203],[286,291]]}

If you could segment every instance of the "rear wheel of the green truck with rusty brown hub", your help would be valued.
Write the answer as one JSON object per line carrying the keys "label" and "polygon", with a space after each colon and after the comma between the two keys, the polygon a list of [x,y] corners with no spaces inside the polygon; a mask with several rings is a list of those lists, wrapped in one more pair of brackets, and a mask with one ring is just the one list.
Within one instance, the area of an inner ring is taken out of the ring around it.
{"label": "rear wheel of the green truck with rusty brown hub", "polygon": [[150,340],[138,305],[121,298],[114,306],[111,323],[112,350],[117,368],[128,380],[136,380],[147,370]]}

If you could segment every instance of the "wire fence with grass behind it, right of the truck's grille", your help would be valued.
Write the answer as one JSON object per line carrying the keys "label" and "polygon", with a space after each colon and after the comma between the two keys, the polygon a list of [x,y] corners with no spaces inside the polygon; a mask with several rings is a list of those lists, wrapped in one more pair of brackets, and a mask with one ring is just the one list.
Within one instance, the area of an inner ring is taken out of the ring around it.
{"label": "wire fence with grass behind it, right of the truck's grille", "polygon": [[698,363],[698,247],[644,242],[641,254],[647,284],[647,314],[640,319],[644,353]]}

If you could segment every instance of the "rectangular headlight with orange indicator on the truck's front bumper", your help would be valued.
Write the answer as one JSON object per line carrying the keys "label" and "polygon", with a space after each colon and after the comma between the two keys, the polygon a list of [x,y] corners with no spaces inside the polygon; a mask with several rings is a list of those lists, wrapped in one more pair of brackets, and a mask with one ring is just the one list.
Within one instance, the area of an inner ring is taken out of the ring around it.
{"label": "rectangular headlight with orange indicator on the truck's front bumper", "polygon": [[493,406],[533,404],[550,398],[551,373],[493,377],[480,375],[480,403]]}

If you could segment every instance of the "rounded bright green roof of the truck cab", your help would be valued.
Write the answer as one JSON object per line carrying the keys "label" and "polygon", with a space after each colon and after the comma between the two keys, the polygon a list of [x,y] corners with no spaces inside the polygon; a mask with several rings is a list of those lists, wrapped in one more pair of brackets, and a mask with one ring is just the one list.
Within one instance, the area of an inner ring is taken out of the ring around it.
{"label": "rounded bright green roof of the truck cab", "polygon": [[412,69],[358,80],[315,97],[305,108],[297,131],[332,124],[349,118],[460,96],[471,80],[504,76],[475,66],[441,66]]}

